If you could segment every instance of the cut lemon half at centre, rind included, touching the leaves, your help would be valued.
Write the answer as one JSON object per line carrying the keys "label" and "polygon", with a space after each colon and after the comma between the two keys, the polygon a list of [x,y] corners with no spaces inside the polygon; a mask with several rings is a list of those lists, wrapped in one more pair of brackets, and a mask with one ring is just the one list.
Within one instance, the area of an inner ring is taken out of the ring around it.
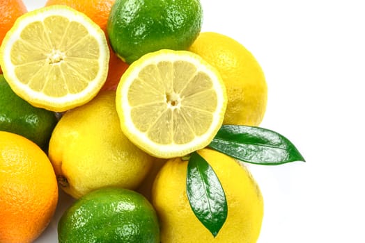
{"label": "cut lemon half at centre, rind included, touching the leaves", "polygon": [[189,51],[146,54],[130,65],[116,91],[123,133],[159,158],[207,146],[222,126],[226,103],[217,70]]}

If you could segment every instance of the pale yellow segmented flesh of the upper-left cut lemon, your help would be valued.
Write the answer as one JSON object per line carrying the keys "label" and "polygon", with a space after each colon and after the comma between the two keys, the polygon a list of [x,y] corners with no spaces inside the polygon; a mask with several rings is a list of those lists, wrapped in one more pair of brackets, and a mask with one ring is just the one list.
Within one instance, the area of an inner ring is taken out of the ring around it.
{"label": "pale yellow segmented flesh of the upper-left cut lemon", "polygon": [[[10,55],[19,81],[52,97],[84,90],[99,70],[100,49],[95,38],[82,24],[63,16],[47,17],[26,26]],[[63,85],[54,85],[59,81]]]}

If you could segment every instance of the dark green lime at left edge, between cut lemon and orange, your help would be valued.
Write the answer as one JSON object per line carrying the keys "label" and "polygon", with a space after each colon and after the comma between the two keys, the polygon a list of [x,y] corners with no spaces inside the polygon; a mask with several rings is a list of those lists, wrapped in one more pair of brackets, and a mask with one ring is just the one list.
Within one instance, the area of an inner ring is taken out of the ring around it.
{"label": "dark green lime at left edge, between cut lemon and orange", "polygon": [[18,97],[0,74],[0,131],[22,135],[47,151],[56,123],[54,112],[31,106]]}

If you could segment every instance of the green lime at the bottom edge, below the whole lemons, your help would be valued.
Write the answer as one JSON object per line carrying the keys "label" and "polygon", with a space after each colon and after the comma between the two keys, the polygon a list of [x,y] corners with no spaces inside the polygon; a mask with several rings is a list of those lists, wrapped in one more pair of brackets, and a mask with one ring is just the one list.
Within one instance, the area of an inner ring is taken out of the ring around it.
{"label": "green lime at the bottom edge, below the whole lemons", "polygon": [[81,197],[64,212],[59,243],[160,243],[160,226],[153,206],[141,194],[105,187]]}

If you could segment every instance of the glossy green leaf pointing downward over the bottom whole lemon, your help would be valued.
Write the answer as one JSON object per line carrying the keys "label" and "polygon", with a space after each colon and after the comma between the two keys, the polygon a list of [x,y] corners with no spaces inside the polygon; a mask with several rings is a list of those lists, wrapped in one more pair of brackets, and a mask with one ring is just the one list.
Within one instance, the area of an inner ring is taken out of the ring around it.
{"label": "glossy green leaf pointing downward over the bottom whole lemon", "polygon": [[226,221],[226,195],[215,171],[194,152],[187,164],[187,198],[196,217],[215,237]]}

